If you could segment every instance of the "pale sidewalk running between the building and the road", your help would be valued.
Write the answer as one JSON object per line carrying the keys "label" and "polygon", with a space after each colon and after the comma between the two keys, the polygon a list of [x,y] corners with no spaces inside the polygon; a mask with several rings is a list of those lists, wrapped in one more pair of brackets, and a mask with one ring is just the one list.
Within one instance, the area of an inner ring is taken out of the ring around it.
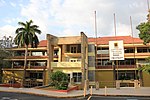
{"label": "pale sidewalk running between the building and the road", "polygon": [[[56,92],[50,90],[41,90],[34,88],[12,88],[12,87],[0,87],[0,92],[17,92],[17,93],[27,93],[27,94],[35,94],[40,96],[48,96],[48,97],[57,97],[57,98],[73,98],[73,97],[83,97],[83,90],[73,90],[68,93]],[[90,89],[86,91],[86,95],[91,93]],[[92,89],[93,95],[101,95],[101,96],[148,96],[150,97],[150,87],[122,87],[120,89],[116,88],[100,88],[99,90]]]}

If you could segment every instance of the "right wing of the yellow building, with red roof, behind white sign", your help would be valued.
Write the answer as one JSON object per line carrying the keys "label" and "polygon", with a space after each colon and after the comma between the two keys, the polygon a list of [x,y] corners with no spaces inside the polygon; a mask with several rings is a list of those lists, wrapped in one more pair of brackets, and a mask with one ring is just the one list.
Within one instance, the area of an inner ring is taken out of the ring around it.
{"label": "right wing of the yellow building, with red roof, behind white sign", "polygon": [[[120,40],[123,41],[124,60],[109,60],[109,42]],[[150,56],[150,46],[143,45],[141,39],[131,36],[111,36],[89,38],[88,41],[96,43],[95,81],[100,82],[101,87],[115,87],[117,81],[121,86],[133,86],[135,80],[140,86],[150,86],[150,75],[137,70],[146,63],[145,58]]]}

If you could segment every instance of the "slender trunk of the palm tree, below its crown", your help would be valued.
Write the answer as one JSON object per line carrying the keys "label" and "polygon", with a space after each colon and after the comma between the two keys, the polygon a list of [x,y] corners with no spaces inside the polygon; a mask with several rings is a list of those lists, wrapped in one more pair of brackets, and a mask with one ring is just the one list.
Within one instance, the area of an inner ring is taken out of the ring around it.
{"label": "slender trunk of the palm tree, below its crown", "polygon": [[26,49],[25,49],[24,68],[23,68],[23,83],[22,83],[23,87],[26,84],[25,80],[26,80],[27,56],[28,56],[28,45],[26,45]]}

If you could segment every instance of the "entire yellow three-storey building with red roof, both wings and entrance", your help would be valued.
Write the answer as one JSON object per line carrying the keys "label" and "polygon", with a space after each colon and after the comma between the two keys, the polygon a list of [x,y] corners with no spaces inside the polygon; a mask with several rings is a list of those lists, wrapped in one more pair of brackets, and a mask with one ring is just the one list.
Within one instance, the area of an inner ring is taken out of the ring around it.
{"label": "entire yellow three-storey building with red roof, both wings and entrance", "polygon": [[[123,41],[124,60],[109,60],[109,41]],[[12,66],[3,68],[3,83],[12,80],[21,83],[23,77],[25,48],[13,47]],[[37,48],[29,48],[26,69],[26,86],[46,85],[49,75],[57,70],[69,76],[70,83],[83,87],[85,80],[89,85],[99,83],[100,87],[150,86],[150,75],[138,71],[150,56],[149,46],[143,45],[139,38],[131,36],[111,36],[88,38],[83,32],[80,36],[56,37],[47,34]],[[13,81],[14,82],[14,81]]]}

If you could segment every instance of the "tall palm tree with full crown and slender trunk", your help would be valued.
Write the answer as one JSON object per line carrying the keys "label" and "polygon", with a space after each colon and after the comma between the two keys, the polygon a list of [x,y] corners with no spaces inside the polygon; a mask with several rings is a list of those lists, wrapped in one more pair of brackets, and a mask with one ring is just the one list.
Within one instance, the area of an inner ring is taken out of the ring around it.
{"label": "tall palm tree with full crown and slender trunk", "polygon": [[18,47],[25,47],[25,59],[24,59],[24,73],[23,73],[23,83],[25,83],[26,77],[26,68],[27,68],[27,55],[28,55],[28,46],[31,45],[32,48],[37,47],[39,44],[38,37],[36,33],[41,34],[41,31],[38,29],[39,26],[32,25],[33,21],[29,22],[18,22],[22,27],[16,29],[16,37],[14,42]]}

